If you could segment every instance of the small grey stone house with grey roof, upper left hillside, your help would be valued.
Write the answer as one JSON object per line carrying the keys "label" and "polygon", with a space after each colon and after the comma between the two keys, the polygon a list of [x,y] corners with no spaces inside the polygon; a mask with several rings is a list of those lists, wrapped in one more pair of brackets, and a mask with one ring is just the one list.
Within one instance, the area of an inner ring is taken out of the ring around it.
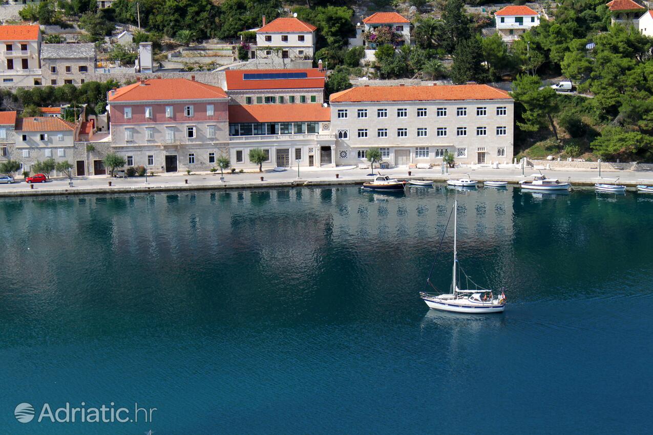
{"label": "small grey stone house with grey roof, upper left hillside", "polygon": [[43,44],[40,59],[44,85],[81,85],[95,72],[95,44]]}

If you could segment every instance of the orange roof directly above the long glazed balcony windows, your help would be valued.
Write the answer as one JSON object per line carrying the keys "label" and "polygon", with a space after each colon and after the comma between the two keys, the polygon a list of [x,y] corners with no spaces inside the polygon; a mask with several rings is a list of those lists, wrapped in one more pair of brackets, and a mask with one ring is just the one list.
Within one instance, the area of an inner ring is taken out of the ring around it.
{"label": "orange roof directly above the long glazed balcony windows", "polygon": [[322,104],[249,104],[229,106],[230,123],[294,123],[328,121],[331,110]]}

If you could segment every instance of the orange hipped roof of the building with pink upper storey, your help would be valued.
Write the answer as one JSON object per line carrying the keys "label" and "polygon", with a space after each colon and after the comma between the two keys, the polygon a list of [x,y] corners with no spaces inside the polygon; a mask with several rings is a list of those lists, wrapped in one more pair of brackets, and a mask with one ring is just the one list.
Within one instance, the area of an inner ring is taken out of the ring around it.
{"label": "orange hipped roof of the building with pink upper storey", "polygon": [[109,101],[215,100],[227,98],[221,87],[187,78],[151,78],[119,87]]}

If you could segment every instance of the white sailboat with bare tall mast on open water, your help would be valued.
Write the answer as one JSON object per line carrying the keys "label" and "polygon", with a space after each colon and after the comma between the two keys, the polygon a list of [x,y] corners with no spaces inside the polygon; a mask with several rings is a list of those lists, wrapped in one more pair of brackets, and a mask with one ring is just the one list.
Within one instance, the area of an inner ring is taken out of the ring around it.
{"label": "white sailboat with bare tall mast on open water", "polygon": [[[456,244],[458,242],[458,200],[454,201],[453,206],[453,278],[451,280],[451,290],[449,293],[428,293],[420,292],[420,296],[426,302],[429,308],[434,308],[436,310],[451,311],[451,312],[463,312],[463,313],[473,313],[473,314],[485,314],[489,312],[503,312],[505,308],[505,294],[494,294],[492,290],[479,287],[475,282],[465,275],[466,282],[469,284],[474,284],[475,289],[461,289],[460,288],[460,276],[458,274],[458,251],[456,249]],[[451,219],[451,215],[449,215]],[[448,226],[449,222],[447,222]],[[445,227],[445,232],[447,228]],[[444,239],[444,234],[442,235]],[[440,246],[442,246],[442,240],[440,240]],[[438,248],[439,252],[439,248]],[[436,260],[438,259],[438,254],[436,254]],[[428,278],[426,278],[426,284],[437,290],[435,286],[431,283],[431,274],[436,262],[433,262],[431,266],[431,271],[428,273]],[[462,271],[462,269],[461,269]],[[464,271],[462,271],[464,274]]]}

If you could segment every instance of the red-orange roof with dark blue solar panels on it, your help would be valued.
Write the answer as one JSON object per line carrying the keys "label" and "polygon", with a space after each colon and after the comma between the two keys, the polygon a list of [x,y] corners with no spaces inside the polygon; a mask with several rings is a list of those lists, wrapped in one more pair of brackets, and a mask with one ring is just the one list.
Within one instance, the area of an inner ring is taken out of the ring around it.
{"label": "red-orange roof with dark blue solar panels on it", "polygon": [[[268,80],[243,80],[243,74],[275,74],[283,72],[306,72],[307,78]],[[226,70],[227,91],[251,89],[323,89],[326,74],[317,68],[295,70]]]}

